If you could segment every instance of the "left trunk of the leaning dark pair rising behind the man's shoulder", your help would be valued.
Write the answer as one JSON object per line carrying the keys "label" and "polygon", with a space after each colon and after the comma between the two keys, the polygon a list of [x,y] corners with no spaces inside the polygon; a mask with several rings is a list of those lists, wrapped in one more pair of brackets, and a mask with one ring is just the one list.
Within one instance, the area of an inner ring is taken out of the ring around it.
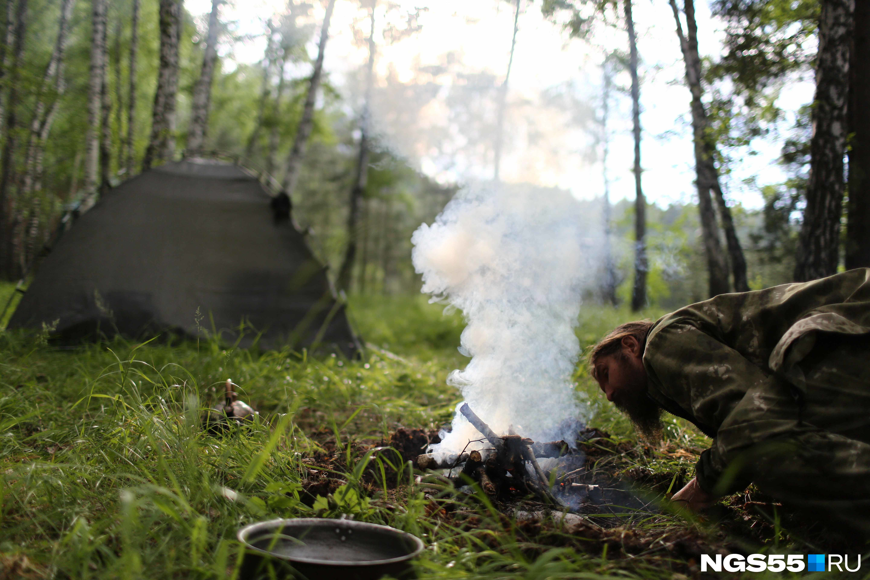
{"label": "left trunk of the leaning dark pair rising behind the man's shoulder", "polygon": [[[707,130],[709,122],[701,101],[701,62],[698,54],[697,25],[694,23],[693,0],[686,0],[686,24],[689,37],[683,35],[682,24],[679,23],[677,3],[670,0],[673,18],[677,24],[679,48],[683,52],[686,63],[686,83],[692,91],[692,129],[695,150],[695,183],[698,187],[698,213],[701,222],[701,238],[704,241],[706,254],[708,285],[710,297],[725,294],[730,290],[728,285],[728,267],[725,254],[719,243],[719,227],[716,225],[716,213],[713,210],[713,200],[710,191],[719,187],[719,172],[710,155]],[[690,18],[689,15],[692,15]]]}

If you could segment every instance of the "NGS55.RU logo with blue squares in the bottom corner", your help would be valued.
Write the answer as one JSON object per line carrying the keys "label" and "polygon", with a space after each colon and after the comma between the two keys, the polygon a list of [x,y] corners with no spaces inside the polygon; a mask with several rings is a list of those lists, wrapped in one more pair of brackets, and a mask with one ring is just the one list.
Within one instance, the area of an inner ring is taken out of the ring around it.
{"label": "NGS55.RU logo with blue squares in the bottom corner", "polygon": [[[854,568],[849,567],[848,554],[807,554],[806,562],[803,554],[729,554],[722,557],[701,555],[702,572],[830,572],[834,568],[847,572],[857,572],[861,568],[861,556],[852,557]],[[843,570],[843,569],[846,570]]]}

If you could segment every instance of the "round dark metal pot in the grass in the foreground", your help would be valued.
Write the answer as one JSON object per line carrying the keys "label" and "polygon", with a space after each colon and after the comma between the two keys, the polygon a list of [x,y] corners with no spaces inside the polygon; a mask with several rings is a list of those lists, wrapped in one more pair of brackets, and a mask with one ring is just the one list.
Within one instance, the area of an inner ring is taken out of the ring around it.
{"label": "round dark metal pot in the grass in the foreground", "polygon": [[315,517],[251,523],[237,536],[243,580],[413,578],[411,558],[423,550],[418,537],[389,526]]}

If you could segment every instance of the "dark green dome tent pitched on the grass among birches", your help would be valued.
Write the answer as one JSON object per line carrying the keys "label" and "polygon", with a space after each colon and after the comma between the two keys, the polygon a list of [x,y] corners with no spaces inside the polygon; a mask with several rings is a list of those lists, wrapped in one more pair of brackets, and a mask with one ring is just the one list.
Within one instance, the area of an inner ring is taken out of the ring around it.
{"label": "dark green dome tent pitched on the grass among birches", "polygon": [[231,163],[144,171],[58,240],[8,328],[48,327],[61,343],[218,331],[242,346],[352,355],[345,305],[283,198]]}

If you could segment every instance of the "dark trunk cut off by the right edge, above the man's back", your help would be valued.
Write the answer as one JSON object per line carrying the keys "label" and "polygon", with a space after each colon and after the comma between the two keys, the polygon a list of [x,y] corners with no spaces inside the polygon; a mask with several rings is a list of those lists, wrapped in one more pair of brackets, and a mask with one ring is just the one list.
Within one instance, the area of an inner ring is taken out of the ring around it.
{"label": "dark trunk cut off by the right edge, above the man's back", "polygon": [[846,269],[870,266],[870,3],[855,3],[849,65]]}

